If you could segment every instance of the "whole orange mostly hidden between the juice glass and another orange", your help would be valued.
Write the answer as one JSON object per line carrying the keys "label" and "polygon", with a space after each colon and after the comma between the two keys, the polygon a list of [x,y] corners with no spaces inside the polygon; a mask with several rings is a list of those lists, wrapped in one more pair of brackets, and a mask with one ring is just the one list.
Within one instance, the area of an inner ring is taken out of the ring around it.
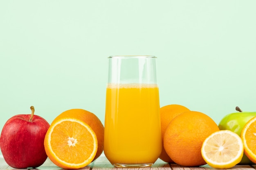
{"label": "whole orange mostly hidden between the juice glass and another orange", "polygon": [[173,163],[173,160],[167,155],[164,149],[164,133],[173,118],[177,115],[184,113],[186,111],[190,111],[188,108],[182,105],[166,105],[160,108],[160,118],[161,118],[161,129],[162,129],[162,153],[159,156],[165,162]]}

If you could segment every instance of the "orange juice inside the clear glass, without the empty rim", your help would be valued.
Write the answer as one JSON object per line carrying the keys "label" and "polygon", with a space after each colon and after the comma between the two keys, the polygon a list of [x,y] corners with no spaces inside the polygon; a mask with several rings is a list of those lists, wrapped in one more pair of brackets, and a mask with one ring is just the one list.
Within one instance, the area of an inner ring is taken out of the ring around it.
{"label": "orange juice inside the clear glass, without the empty rim", "polygon": [[112,164],[154,163],[162,150],[155,84],[112,84],[106,92],[104,153]]}

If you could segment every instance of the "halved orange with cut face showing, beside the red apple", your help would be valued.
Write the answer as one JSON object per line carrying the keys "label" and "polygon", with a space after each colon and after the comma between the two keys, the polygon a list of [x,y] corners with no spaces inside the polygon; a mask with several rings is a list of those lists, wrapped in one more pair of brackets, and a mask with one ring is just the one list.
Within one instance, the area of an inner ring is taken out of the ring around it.
{"label": "halved orange with cut face showing, beside the red apple", "polygon": [[98,141],[92,128],[76,118],[60,118],[45,135],[45,152],[57,166],[79,169],[94,159]]}

